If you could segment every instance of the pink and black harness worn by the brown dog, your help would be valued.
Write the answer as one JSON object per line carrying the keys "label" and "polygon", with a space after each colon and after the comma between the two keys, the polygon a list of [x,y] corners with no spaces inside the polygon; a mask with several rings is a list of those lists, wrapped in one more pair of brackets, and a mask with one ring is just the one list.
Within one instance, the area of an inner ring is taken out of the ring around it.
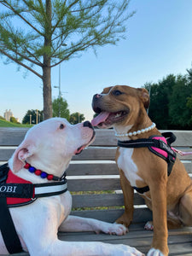
{"label": "pink and black harness worn by the brown dog", "polygon": [[[171,144],[176,140],[176,136],[172,132],[164,132],[162,136],[152,136],[148,139],[142,138],[130,141],[118,141],[121,148],[148,148],[152,153],[160,156],[167,162],[167,176],[172,172],[172,166],[176,160],[176,153],[171,148]],[[159,150],[160,149],[160,150]],[[162,151],[161,151],[162,150]],[[138,193],[143,194],[149,191],[149,187],[137,188]]]}

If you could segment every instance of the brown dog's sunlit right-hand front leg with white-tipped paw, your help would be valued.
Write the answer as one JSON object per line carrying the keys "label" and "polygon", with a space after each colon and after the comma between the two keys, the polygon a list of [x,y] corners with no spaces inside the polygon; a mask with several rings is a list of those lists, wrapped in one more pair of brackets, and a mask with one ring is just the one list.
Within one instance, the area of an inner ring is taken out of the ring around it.
{"label": "brown dog's sunlit right-hand front leg with white-tipped paw", "polygon": [[148,252],[148,256],[168,255],[169,249],[167,246],[167,221],[166,221],[166,183],[167,175],[164,177],[155,177],[155,180],[149,184],[152,210],[153,210],[153,224],[154,237],[152,248]]}

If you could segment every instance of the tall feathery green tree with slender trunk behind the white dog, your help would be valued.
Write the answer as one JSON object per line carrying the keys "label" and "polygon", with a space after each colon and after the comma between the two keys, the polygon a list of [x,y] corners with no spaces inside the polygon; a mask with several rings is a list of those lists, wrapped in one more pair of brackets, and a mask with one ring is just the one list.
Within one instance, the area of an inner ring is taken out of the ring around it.
{"label": "tall feathery green tree with slender trunk behind the white dog", "polygon": [[[51,68],[124,37],[130,0],[0,0],[0,54],[43,80],[52,116]],[[3,58],[4,59],[4,58]]]}

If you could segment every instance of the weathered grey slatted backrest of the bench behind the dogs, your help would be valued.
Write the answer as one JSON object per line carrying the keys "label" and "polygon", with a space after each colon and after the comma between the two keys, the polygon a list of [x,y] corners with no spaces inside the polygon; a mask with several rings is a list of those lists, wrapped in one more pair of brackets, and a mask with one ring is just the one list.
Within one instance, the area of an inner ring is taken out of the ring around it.
{"label": "weathered grey slatted backrest of the bench behind the dogs", "polygon": [[[0,127],[0,165],[9,160],[28,128]],[[173,131],[177,141],[173,147],[192,151],[192,131]],[[96,130],[96,140],[73,157],[67,169],[68,189],[73,194],[72,214],[113,222],[124,211],[119,172],[114,161],[117,139],[113,130]],[[178,158],[192,174],[192,155]],[[145,222],[151,212],[143,199],[135,194],[134,222]]]}

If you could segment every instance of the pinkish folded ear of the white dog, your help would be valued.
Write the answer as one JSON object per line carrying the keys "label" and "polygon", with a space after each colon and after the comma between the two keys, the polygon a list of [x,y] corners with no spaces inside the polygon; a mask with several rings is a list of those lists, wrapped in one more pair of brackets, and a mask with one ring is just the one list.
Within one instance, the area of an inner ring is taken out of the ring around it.
{"label": "pinkish folded ear of the white dog", "polygon": [[34,145],[33,143],[23,142],[15,150],[15,153],[12,156],[13,161],[13,172],[18,172],[20,169],[26,165],[26,159],[32,154],[34,154]]}

